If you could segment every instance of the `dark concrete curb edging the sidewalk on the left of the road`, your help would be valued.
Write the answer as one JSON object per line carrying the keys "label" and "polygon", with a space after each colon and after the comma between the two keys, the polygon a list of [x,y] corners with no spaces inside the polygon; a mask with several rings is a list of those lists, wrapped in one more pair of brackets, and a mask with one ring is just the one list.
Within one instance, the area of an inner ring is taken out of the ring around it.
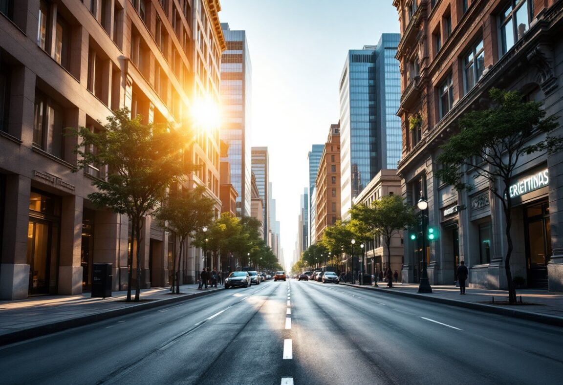
{"label": "dark concrete curb edging the sidewalk on the left of the road", "polygon": [[[86,316],[70,318],[68,320],[57,321],[52,324],[38,325],[29,329],[17,330],[16,332],[1,334],[0,346],[8,345],[15,342],[25,341],[26,339],[31,339],[35,337],[42,337],[43,335],[47,335],[47,334],[62,332],[62,330],[78,328],[78,326],[89,325],[96,323],[98,321],[105,321],[114,317],[132,314],[137,311],[143,311],[154,307],[169,305],[171,303],[187,301],[188,299],[192,299],[192,298],[208,296],[209,294],[215,293],[218,290],[219,289],[217,288],[216,290],[209,290],[208,292],[199,292],[193,294],[176,294],[175,297],[171,297],[171,298],[155,299],[154,301],[150,301],[150,302],[141,302],[141,303],[137,303],[136,305],[129,305],[119,309],[101,311],[95,314],[89,314]],[[172,294],[170,295],[172,296]]]}

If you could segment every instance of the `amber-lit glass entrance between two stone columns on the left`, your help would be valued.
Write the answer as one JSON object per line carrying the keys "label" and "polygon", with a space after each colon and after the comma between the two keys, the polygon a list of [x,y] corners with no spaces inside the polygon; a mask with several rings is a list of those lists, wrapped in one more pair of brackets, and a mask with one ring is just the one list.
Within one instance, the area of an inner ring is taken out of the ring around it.
{"label": "amber-lit glass entrance between two stone columns on the left", "polygon": [[29,199],[29,294],[56,294],[59,272],[61,200],[32,189]]}

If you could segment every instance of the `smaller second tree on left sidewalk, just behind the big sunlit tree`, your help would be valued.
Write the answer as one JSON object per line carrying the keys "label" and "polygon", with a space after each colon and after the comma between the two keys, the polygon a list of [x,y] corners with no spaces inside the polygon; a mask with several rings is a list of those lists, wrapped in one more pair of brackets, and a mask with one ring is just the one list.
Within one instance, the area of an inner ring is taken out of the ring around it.
{"label": "smaller second tree on left sidewalk, just behind the big sunlit tree", "polygon": [[167,199],[153,214],[159,225],[174,234],[180,244],[177,257],[175,254],[172,262],[171,292],[176,289],[176,294],[180,294],[180,266],[186,239],[213,221],[215,202],[205,196],[205,190],[204,186],[193,190],[171,190]]}

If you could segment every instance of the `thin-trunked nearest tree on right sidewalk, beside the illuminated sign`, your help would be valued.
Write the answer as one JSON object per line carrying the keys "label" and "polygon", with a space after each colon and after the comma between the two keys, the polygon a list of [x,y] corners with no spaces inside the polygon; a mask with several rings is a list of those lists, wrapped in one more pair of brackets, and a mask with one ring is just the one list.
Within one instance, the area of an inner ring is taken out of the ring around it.
{"label": "thin-trunked nearest tree on right sidewalk, beside the illuminated sign", "polygon": [[516,303],[516,288],[510,270],[513,244],[511,180],[522,156],[538,152],[555,153],[563,149],[563,138],[552,132],[559,126],[557,117],[546,117],[542,103],[526,102],[518,92],[491,89],[490,108],[467,113],[459,120],[460,131],[441,146],[437,172],[441,181],[457,190],[470,190],[467,174],[489,181],[488,189],[501,203],[506,224],[507,250],[504,270],[508,301]]}

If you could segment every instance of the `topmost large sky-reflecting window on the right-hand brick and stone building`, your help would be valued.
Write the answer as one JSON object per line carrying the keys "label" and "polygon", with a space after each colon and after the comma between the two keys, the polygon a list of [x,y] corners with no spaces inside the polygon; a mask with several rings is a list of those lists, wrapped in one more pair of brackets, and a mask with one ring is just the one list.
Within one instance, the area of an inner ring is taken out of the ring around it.
{"label": "topmost large sky-reflecting window on the right-hand brick and stone building", "polygon": [[532,1],[510,0],[510,5],[501,14],[502,55],[528,31],[531,15],[533,15]]}

